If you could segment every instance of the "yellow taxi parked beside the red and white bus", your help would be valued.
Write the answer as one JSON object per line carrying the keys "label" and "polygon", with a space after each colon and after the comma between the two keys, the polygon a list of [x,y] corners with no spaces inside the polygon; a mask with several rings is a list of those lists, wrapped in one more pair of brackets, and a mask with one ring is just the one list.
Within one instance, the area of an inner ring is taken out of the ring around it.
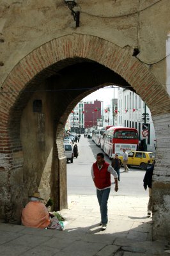
{"label": "yellow taxi parked beside the red and white bus", "polygon": [[[123,156],[119,158],[122,162]],[[148,164],[152,164],[154,160],[155,154],[153,152],[131,151],[128,153],[127,165],[140,166],[142,170],[146,170]]]}

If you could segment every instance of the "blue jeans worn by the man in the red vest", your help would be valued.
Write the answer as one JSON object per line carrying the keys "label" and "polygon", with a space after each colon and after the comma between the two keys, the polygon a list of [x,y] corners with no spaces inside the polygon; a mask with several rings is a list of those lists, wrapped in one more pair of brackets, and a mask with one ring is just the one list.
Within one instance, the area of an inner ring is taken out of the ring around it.
{"label": "blue jeans worn by the man in the red vest", "polygon": [[102,224],[107,224],[107,200],[109,198],[111,188],[107,188],[104,190],[97,189],[97,199],[98,204],[100,205],[100,214],[101,214],[101,221]]}

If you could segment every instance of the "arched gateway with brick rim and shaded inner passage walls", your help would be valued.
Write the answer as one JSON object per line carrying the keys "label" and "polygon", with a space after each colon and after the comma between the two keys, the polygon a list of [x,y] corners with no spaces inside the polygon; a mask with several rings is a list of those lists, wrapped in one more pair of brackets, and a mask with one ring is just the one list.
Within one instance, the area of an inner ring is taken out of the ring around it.
{"label": "arched gateway with brick rim and shaded inner passage walls", "polygon": [[52,197],[56,209],[66,207],[66,118],[79,100],[111,82],[129,86],[150,108],[157,136],[153,238],[170,236],[169,95],[130,52],[90,35],[41,45],[1,85],[0,218],[19,221],[34,189]]}

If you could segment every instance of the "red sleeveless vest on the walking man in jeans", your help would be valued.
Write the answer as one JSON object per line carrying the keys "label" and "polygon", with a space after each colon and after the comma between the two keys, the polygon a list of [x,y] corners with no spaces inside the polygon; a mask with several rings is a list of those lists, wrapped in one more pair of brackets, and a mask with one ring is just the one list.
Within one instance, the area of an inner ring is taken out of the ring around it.
{"label": "red sleeveless vest on the walking man in jeans", "polygon": [[99,170],[97,162],[93,164],[93,172],[95,175],[94,182],[98,189],[104,189],[111,186],[111,173],[107,172],[108,166],[109,163],[104,161],[102,168]]}

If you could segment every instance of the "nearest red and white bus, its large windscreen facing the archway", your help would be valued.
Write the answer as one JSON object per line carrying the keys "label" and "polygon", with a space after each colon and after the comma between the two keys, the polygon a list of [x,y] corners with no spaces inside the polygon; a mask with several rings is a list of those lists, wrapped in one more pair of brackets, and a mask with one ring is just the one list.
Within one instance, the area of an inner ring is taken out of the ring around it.
{"label": "nearest red and white bus, its large windscreen facing the archway", "polygon": [[137,150],[139,144],[138,132],[135,128],[114,126],[105,131],[104,152],[113,158],[114,154],[123,155],[123,148],[127,153]]}

